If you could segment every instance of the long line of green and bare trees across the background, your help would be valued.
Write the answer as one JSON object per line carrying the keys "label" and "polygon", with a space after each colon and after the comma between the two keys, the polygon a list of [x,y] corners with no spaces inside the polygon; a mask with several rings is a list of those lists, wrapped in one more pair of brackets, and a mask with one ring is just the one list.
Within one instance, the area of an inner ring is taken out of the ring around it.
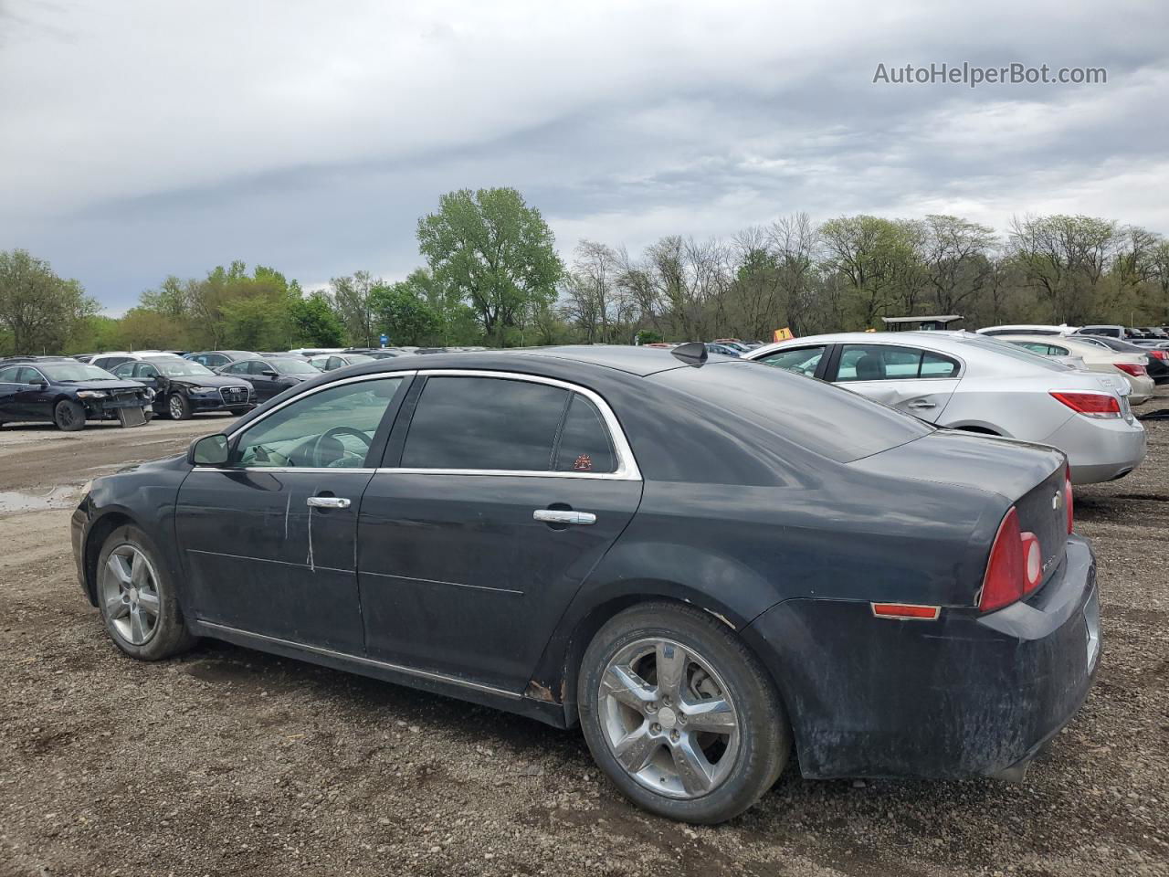
{"label": "long line of green and bare trees across the background", "polygon": [[881,327],[883,316],[1164,324],[1169,241],[1090,216],[969,220],[796,213],[727,240],[667,235],[632,256],[581,241],[569,264],[511,188],[443,195],[417,225],[426,264],[305,292],[243,262],[165,278],[119,318],[23,250],[0,253],[0,352],[296,346],[517,346],[770,337]]}

